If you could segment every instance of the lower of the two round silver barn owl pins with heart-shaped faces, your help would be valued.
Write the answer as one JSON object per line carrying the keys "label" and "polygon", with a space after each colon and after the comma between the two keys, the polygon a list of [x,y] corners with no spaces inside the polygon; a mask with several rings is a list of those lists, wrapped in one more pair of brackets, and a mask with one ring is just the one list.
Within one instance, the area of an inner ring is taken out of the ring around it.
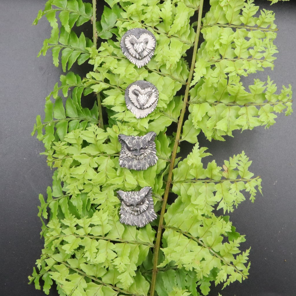
{"label": "lower of the two round silver barn owl pins with heart-shaped faces", "polygon": [[158,96],[154,84],[138,80],[126,88],[124,97],[128,110],[136,115],[136,118],[144,118],[156,108]]}

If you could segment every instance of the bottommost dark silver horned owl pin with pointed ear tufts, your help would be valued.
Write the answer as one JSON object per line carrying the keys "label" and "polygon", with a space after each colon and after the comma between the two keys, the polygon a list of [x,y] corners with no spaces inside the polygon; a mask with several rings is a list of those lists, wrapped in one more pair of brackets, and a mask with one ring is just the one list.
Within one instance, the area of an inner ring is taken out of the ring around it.
{"label": "bottommost dark silver horned owl pin with pointed ear tufts", "polygon": [[144,187],[140,191],[117,191],[121,201],[120,223],[144,227],[157,218],[152,200],[152,188]]}

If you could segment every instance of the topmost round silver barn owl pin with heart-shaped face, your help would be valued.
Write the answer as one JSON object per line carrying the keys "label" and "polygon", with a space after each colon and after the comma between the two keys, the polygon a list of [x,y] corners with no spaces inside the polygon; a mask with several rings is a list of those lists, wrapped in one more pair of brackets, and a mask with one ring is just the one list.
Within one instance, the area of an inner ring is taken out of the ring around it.
{"label": "topmost round silver barn owl pin with heart-shaped face", "polygon": [[147,65],[156,47],[155,36],[146,29],[128,30],[120,40],[123,54],[138,68]]}

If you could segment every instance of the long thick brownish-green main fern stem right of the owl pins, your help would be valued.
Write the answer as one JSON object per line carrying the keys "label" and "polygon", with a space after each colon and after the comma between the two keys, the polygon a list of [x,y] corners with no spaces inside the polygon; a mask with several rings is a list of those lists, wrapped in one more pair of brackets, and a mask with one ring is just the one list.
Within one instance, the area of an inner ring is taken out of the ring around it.
{"label": "long thick brownish-green main fern stem right of the owl pins", "polygon": [[161,237],[162,237],[162,232],[163,232],[164,214],[165,214],[166,205],[167,205],[167,202],[168,202],[168,194],[170,192],[170,185],[171,185],[172,176],[173,176],[173,168],[174,168],[174,165],[175,165],[177,150],[178,150],[178,146],[179,146],[179,141],[180,141],[181,130],[182,130],[182,126],[183,126],[184,115],[185,115],[185,111],[186,111],[186,108],[187,108],[187,102],[188,102],[188,96],[189,96],[189,90],[190,90],[190,83],[192,81],[194,67],[195,67],[195,61],[196,61],[196,55],[197,55],[197,47],[198,47],[198,41],[199,41],[200,30],[201,30],[201,22],[202,22],[202,7],[203,7],[203,0],[200,0],[200,7],[199,7],[199,10],[198,10],[198,21],[197,21],[197,29],[196,29],[196,36],[195,36],[195,41],[194,41],[194,48],[193,48],[191,67],[190,67],[189,77],[188,77],[188,80],[187,80],[187,83],[186,83],[186,90],[185,90],[185,95],[184,95],[184,100],[183,100],[183,106],[182,106],[181,114],[180,114],[179,121],[178,121],[176,139],[175,139],[175,143],[174,143],[174,147],[173,147],[172,157],[171,157],[171,160],[170,160],[170,169],[169,169],[169,172],[168,172],[168,181],[167,181],[167,184],[166,184],[166,187],[165,187],[165,193],[164,193],[164,196],[163,196],[163,205],[161,207],[160,219],[159,219],[159,224],[158,224],[158,229],[157,229],[157,237],[156,237],[155,250],[154,250],[154,262],[153,262],[153,269],[152,269],[152,279],[151,279],[151,287],[150,287],[150,296],[154,296],[154,292],[155,292],[156,277],[157,277],[157,271],[158,271],[157,270],[158,255],[159,255]]}

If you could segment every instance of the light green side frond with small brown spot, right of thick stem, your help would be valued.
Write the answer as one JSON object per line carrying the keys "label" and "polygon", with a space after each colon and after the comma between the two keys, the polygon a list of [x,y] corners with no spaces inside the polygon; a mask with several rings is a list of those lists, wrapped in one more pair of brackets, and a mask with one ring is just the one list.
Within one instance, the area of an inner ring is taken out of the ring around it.
{"label": "light green side frond with small brown spot, right of thick stem", "polygon": [[232,212],[234,206],[245,200],[241,191],[250,192],[250,200],[255,200],[258,186],[261,192],[261,179],[254,176],[248,168],[251,165],[248,157],[242,152],[234,155],[223,167],[217,166],[213,160],[203,167],[202,158],[207,156],[206,148],[196,144],[186,159],[178,163],[173,170],[173,192],[182,197],[182,201],[190,200],[195,210],[210,215],[215,205],[223,208],[224,213]]}

